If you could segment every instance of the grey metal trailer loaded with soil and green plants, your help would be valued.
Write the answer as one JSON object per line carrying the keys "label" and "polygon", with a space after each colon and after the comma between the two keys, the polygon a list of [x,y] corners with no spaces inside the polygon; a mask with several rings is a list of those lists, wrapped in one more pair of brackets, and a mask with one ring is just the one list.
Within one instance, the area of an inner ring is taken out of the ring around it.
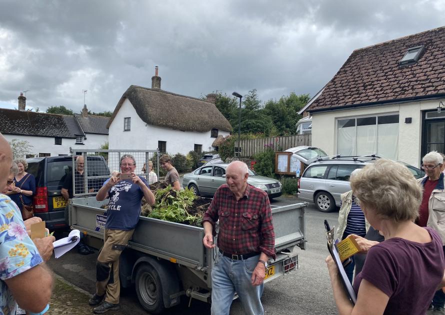
{"label": "grey metal trailer loaded with soil and green plants", "polygon": [[[94,196],[69,200],[69,224],[97,249],[103,244],[106,222],[106,210],[101,206],[107,202],[97,201]],[[306,205],[303,202],[272,207],[276,259],[269,258],[264,282],[298,268],[297,247],[305,248]],[[189,302],[211,302],[210,273],[217,248],[205,248],[203,237],[202,227],[140,216],[120,256],[121,286],[135,285],[140,304],[156,314],[179,304],[181,297]],[[217,243],[216,236],[213,242]]]}

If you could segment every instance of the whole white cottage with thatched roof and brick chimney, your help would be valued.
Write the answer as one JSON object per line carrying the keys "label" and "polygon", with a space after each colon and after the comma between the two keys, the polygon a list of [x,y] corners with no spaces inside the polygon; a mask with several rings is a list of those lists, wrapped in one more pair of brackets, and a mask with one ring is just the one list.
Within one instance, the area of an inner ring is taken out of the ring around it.
{"label": "whole white cottage with thatched roof and brick chimney", "polygon": [[108,122],[110,149],[156,149],[186,154],[214,149],[218,135],[228,135],[230,123],[216,108],[215,94],[207,99],[160,89],[160,77],[151,88],[131,85],[123,93]]}

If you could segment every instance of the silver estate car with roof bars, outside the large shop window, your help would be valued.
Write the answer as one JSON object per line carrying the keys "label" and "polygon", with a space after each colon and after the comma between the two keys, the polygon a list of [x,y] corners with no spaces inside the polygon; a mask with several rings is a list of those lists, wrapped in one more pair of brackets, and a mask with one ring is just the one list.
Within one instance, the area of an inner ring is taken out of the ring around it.
{"label": "silver estate car with roof bars, outside the large shop window", "polygon": [[[340,195],[349,191],[349,177],[355,168],[362,168],[378,157],[348,156],[322,159],[309,164],[298,179],[298,199],[314,202],[321,212],[330,212],[340,206]],[[423,170],[400,162],[415,178],[425,175]]]}

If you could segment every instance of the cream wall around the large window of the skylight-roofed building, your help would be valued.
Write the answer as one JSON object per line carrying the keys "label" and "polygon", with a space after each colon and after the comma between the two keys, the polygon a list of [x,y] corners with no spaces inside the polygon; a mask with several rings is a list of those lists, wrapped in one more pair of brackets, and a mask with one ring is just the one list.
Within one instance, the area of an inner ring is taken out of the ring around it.
{"label": "cream wall around the large window of the skylight-roofed building", "polygon": [[[399,122],[397,159],[418,167],[421,158],[421,111],[435,109],[439,101],[440,100],[434,99],[329,111],[324,113],[313,113],[312,145],[325,150],[328,155],[336,154],[337,119],[398,113]],[[411,123],[405,123],[406,117],[411,117]]]}

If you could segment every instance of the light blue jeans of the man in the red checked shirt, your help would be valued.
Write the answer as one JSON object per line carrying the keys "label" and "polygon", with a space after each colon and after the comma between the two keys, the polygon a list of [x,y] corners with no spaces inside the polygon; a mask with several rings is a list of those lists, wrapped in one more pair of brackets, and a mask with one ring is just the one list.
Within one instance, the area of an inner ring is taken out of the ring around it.
{"label": "light blue jeans of the man in the red checked shirt", "polygon": [[211,315],[228,315],[235,292],[245,314],[263,315],[261,294],[264,283],[252,285],[251,276],[259,255],[232,260],[219,251],[211,270]]}

